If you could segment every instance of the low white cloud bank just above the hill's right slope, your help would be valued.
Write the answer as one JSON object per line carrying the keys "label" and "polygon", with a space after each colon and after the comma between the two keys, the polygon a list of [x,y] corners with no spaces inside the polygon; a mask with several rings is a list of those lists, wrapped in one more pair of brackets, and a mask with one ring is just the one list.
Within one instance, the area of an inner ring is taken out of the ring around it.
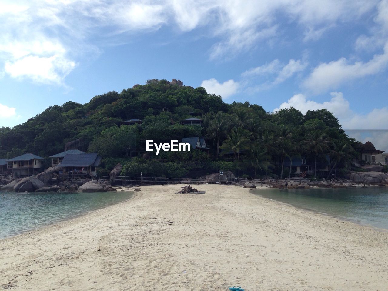
{"label": "low white cloud bank just above the hill's right slope", "polygon": [[341,92],[332,92],[331,99],[322,103],[314,100],[307,100],[303,94],[296,94],[287,102],[282,103],[280,109],[294,107],[305,114],[308,110],[327,109],[334,114],[340,121],[342,128],[345,129],[386,129],[388,128],[388,107],[375,108],[372,111],[364,114],[357,114],[350,108],[350,103],[343,97]]}

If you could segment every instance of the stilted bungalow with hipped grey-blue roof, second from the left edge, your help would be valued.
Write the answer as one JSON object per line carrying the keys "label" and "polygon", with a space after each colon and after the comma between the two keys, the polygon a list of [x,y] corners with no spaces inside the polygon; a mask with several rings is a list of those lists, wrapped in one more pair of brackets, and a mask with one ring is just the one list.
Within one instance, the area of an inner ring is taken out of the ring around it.
{"label": "stilted bungalow with hipped grey-blue roof, second from the left edge", "polygon": [[7,167],[12,172],[13,177],[28,177],[40,172],[43,159],[40,156],[36,156],[36,154],[22,154],[21,156],[7,159]]}

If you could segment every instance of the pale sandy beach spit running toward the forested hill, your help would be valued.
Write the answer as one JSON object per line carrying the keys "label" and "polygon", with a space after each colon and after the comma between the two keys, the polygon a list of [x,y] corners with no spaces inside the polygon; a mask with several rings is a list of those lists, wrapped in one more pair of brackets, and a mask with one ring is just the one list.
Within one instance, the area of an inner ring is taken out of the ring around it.
{"label": "pale sandy beach spit running toward the forested hill", "polygon": [[182,186],[142,186],[125,203],[1,240],[0,288],[387,290],[387,232],[237,186],[175,194]]}

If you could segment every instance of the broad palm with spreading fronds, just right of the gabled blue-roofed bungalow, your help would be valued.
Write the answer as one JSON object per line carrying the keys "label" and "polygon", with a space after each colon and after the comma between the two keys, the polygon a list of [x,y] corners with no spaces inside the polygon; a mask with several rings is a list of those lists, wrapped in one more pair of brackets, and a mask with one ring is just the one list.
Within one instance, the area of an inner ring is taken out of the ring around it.
{"label": "broad palm with spreading fronds, just right of the gabled blue-roofed bungalow", "polygon": [[240,156],[240,152],[244,149],[248,149],[251,141],[249,140],[250,133],[244,130],[242,127],[234,127],[232,132],[227,135],[227,139],[224,140],[220,149],[223,149],[221,155],[232,151],[234,155],[234,161]]}

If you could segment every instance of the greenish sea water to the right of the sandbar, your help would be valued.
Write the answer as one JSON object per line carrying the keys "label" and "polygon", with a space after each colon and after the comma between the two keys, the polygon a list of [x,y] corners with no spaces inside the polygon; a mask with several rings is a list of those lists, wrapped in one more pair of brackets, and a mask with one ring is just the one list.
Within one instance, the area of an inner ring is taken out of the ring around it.
{"label": "greenish sea water to the right of the sandbar", "polygon": [[363,225],[388,229],[388,189],[367,187],[350,189],[253,190],[262,197],[317,211]]}

